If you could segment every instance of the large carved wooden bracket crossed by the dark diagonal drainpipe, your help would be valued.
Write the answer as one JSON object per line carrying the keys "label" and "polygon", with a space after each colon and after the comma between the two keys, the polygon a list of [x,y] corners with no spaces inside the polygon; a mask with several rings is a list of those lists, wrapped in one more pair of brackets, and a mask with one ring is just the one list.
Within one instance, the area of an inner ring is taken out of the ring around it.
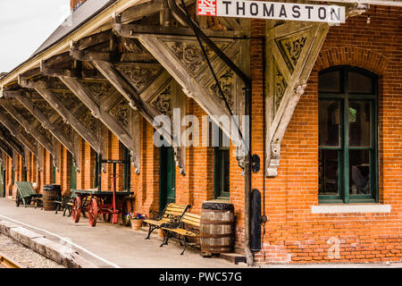
{"label": "large carved wooden bracket crossed by the dark diagonal drainpipe", "polygon": [[[113,29],[117,29],[116,32],[121,31],[116,25]],[[226,126],[220,121],[222,115],[230,118],[230,112],[219,95],[211,72],[207,69],[204,55],[195,38],[184,36],[174,38],[173,36],[149,35],[141,32],[133,33],[133,36],[122,33],[120,36],[138,38],[141,44],[180,84],[183,92],[188,97],[194,98],[206,114],[210,115],[213,121],[230,137],[230,126]],[[235,59],[239,54],[239,43],[237,41],[222,41],[218,43],[218,46],[221,46],[231,59]],[[208,53],[222,87],[225,86],[222,89],[225,90],[225,97],[232,105],[233,114],[238,114],[236,103],[240,85],[237,84],[237,77],[225,63],[214,56],[214,53],[210,51]]]}

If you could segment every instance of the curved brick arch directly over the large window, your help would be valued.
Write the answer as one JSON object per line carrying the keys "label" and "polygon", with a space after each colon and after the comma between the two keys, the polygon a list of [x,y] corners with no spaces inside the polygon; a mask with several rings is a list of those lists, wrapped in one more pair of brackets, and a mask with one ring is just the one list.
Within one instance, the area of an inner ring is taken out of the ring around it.
{"label": "curved brick arch directly over the large window", "polygon": [[336,65],[351,65],[382,75],[388,62],[389,58],[372,50],[342,46],[321,51],[315,62],[315,70],[322,71]]}

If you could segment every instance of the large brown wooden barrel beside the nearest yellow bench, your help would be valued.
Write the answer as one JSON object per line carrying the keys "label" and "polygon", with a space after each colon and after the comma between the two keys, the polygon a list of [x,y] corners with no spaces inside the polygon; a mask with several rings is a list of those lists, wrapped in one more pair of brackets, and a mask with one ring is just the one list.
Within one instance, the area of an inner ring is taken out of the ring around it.
{"label": "large brown wooden barrel beside the nearest yellow bench", "polygon": [[233,252],[234,223],[232,204],[216,200],[206,201],[201,212],[201,252],[204,255]]}

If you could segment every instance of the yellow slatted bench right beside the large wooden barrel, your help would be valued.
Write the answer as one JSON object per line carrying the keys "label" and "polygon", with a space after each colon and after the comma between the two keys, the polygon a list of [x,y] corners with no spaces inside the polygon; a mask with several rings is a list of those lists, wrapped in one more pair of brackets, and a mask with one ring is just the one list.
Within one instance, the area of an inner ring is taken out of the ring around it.
{"label": "yellow slatted bench right beside the large wooden barrel", "polygon": [[181,222],[177,228],[174,226],[163,226],[163,242],[161,244],[161,248],[163,245],[168,244],[168,241],[172,239],[173,234],[178,235],[178,240],[180,241],[180,245],[182,242],[184,243],[183,251],[181,251],[180,255],[184,254],[188,245],[200,247],[196,242],[189,242],[189,238],[198,239],[199,238],[199,227],[200,227],[201,216],[198,214],[190,214],[186,213],[181,217]]}

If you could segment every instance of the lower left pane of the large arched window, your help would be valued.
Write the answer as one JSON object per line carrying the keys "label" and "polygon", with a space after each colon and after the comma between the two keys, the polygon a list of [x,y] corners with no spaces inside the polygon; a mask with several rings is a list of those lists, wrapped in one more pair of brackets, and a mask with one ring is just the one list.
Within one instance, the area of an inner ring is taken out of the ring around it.
{"label": "lower left pane of the large arched window", "polygon": [[339,176],[338,150],[320,150],[319,156],[319,194],[338,195]]}

